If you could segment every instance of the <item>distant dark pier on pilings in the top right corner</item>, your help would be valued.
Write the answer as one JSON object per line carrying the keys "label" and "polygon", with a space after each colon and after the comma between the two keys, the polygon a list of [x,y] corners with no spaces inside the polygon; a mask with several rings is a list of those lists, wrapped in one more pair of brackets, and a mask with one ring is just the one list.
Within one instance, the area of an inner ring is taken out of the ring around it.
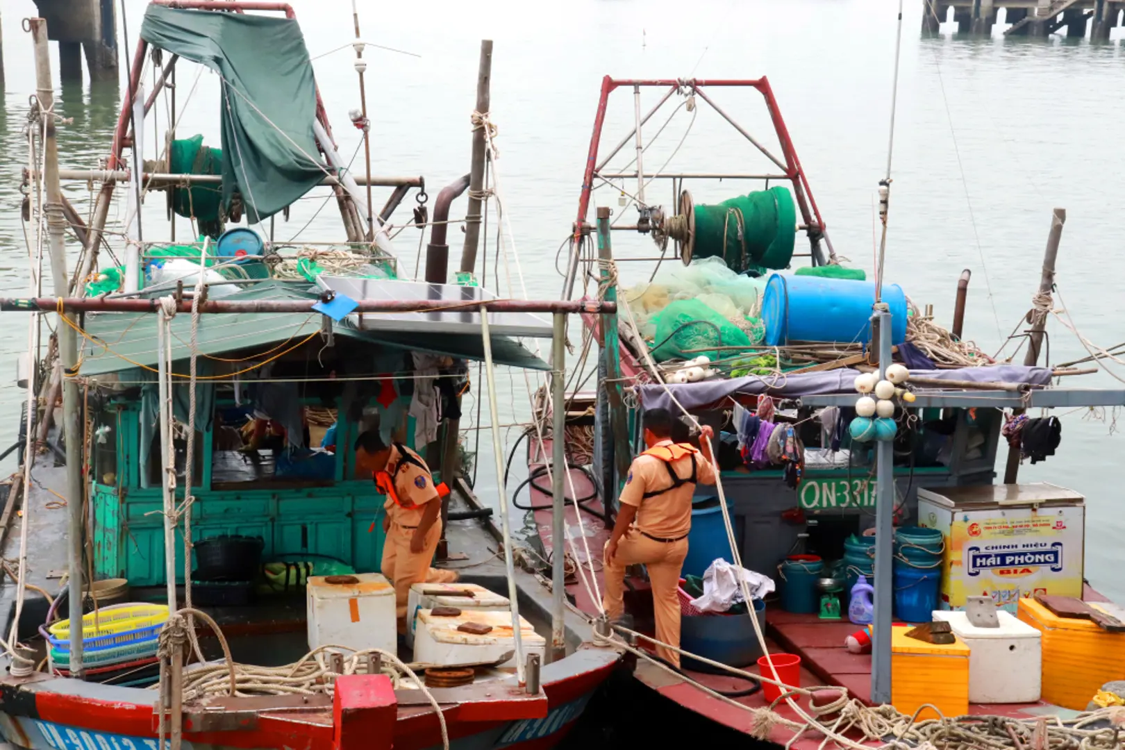
{"label": "distant dark pier on pilings in the top right corner", "polygon": [[1084,37],[1087,27],[1090,38],[1109,39],[1109,33],[1122,22],[1125,9],[1122,0],[922,0],[921,30],[936,33],[943,22],[950,20],[957,31],[973,36],[992,36],[992,26],[1002,9],[1006,24],[1005,36],[1045,37],[1065,28],[1069,37]]}

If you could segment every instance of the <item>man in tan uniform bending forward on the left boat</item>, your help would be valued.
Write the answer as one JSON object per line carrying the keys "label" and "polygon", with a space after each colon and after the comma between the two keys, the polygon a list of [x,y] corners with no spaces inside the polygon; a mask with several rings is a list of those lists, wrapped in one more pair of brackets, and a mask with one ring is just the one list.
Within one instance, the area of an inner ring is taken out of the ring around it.
{"label": "man in tan uniform bending forward on the left boat", "polygon": [[444,484],[434,486],[430,467],[402,443],[385,445],[375,431],[363,433],[361,440],[375,471],[375,485],[387,496],[382,506],[387,540],[381,571],[395,585],[398,632],[405,633],[411,586],[423,581],[452,584],[458,579],[454,570],[430,567],[441,541],[441,498],[449,490]]}

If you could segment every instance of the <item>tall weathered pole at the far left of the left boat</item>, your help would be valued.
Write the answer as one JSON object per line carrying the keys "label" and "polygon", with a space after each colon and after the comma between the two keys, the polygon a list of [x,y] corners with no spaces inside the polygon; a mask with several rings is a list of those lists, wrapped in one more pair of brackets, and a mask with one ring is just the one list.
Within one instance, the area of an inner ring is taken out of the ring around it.
{"label": "tall weathered pole at the far left of the left boat", "polygon": [[[36,97],[39,106],[51,112],[54,110],[54,87],[51,79],[51,53],[47,45],[47,22],[42,18],[29,21],[32,37],[35,40],[35,78]],[[46,143],[44,144],[44,182],[45,205],[47,213],[47,238],[51,253],[51,277],[54,289],[65,290],[66,275],[66,219],[63,217],[62,186],[58,182],[58,142],[55,135],[55,119],[47,116]],[[40,308],[42,309],[42,308]],[[63,316],[74,322],[73,313]],[[79,405],[78,383],[73,378],[65,378],[66,372],[73,372],[78,364],[78,341],[74,329],[64,322],[58,325],[58,354],[64,369],[63,385],[63,430],[66,435],[66,496],[68,510],[68,564],[70,566],[70,602],[71,611],[82,616],[82,427]],[[32,425],[27,425],[30,430]],[[30,460],[26,457],[25,460]],[[26,515],[26,514],[25,514]],[[24,566],[20,566],[22,575]],[[17,623],[18,624],[18,623]],[[82,629],[72,627],[70,633],[71,674],[82,678]]]}

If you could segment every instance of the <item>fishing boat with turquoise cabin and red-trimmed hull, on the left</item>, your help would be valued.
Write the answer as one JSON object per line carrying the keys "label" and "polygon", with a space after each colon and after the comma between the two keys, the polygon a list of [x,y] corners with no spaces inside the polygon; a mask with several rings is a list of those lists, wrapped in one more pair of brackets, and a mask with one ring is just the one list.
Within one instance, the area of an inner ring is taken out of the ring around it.
{"label": "fishing boat with turquoise cabin and red-trimmed hull, on the left", "polygon": [[[464,394],[487,390],[498,424],[493,368],[548,370],[526,342],[559,351],[566,315],[614,306],[477,286],[487,128],[431,217],[423,178],[357,179],[342,162],[289,6],[154,0],[107,162],[61,170],[46,25],[28,28],[30,290],[0,308],[32,314],[32,362],[40,317],[57,315],[58,335],[27,376],[24,466],[0,523],[18,561],[4,564],[0,734],[29,750],[557,744],[621,652],[522,563],[507,515],[494,518],[468,479],[467,461],[501,454],[498,430],[466,457],[458,417]],[[362,94],[358,16],[356,30]],[[220,78],[222,148],[169,132],[146,162],[145,114],[166,107],[179,121],[188,63]],[[362,99],[351,120],[368,143]],[[100,186],[90,225],[60,190],[68,179]],[[122,233],[107,226],[118,186]],[[372,187],[393,188],[381,210]],[[450,205],[467,188],[471,231],[447,283]],[[344,236],[274,240],[274,219],[314,189],[338,205]],[[159,232],[141,216],[154,192],[168,196]],[[431,227],[417,280],[389,225],[411,192],[403,225]],[[81,253],[66,252],[68,224]],[[485,383],[470,382],[469,361]],[[378,575],[386,509],[362,463],[367,434],[417,449],[450,490],[430,571],[446,582],[412,589],[413,645]],[[434,614],[450,602],[460,608],[440,616],[469,613],[452,629]]]}

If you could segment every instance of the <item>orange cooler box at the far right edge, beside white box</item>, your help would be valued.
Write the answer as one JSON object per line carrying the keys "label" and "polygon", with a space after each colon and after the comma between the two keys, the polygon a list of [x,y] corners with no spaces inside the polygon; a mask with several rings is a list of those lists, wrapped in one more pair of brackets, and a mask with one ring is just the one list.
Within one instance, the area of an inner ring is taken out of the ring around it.
{"label": "orange cooler box at the far right edge, beside white box", "polygon": [[1043,699],[1086,711],[1102,685],[1125,679],[1125,633],[1089,620],[1059,617],[1035,599],[1019,600],[1019,618],[1043,636]]}

